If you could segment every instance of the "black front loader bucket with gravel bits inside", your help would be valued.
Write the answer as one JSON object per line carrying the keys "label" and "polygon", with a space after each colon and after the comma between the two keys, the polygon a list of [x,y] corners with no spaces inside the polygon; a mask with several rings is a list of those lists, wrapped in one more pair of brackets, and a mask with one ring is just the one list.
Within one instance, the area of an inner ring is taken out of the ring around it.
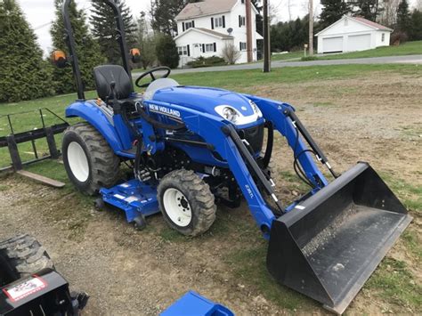
{"label": "black front loader bucket with gravel bits inside", "polygon": [[410,221],[385,182],[359,163],[272,223],[267,267],[341,314]]}

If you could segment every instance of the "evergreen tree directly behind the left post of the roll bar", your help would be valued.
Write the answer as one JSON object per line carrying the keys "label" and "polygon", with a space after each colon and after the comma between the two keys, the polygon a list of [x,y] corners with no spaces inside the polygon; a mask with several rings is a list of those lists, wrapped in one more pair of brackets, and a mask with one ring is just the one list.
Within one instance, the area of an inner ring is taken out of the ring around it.
{"label": "evergreen tree directly behind the left post of the roll bar", "polygon": [[[56,18],[53,21],[50,32],[53,37],[53,47],[61,50],[69,56],[68,45],[65,43],[65,29],[63,17],[61,15],[61,4],[63,0],[54,0],[56,7]],[[94,89],[93,68],[104,62],[100,47],[89,33],[86,25],[85,13],[77,9],[77,4],[72,2],[69,6],[70,22],[73,28],[73,35],[77,45],[77,57],[79,60],[79,68],[81,70],[82,81],[85,90]],[[53,78],[56,83],[56,93],[75,92],[75,79],[73,77],[71,67],[64,69],[54,68]]]}

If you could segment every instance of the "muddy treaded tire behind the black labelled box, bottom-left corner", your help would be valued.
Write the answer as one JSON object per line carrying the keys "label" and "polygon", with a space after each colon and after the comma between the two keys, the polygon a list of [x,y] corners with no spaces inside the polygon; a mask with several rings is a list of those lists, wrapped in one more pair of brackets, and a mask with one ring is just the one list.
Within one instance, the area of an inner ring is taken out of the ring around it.
{"label": "muddy treaded tire behind the black labelled box, bottom-left corner", "polygon": [[0,287],[46,268],[54,264],[37,239],[20,235],[0,242]]}

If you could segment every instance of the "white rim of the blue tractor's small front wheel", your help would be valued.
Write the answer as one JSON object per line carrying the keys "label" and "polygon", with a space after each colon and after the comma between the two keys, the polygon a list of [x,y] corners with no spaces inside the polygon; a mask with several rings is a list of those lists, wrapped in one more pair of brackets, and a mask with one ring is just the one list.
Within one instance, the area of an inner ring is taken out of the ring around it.
{"label": "white rim of the blue tractor's small front wheel", "polygon": [[186,227],[191,223],[191,205],[180,190],[167,189],[164,192],[163,204],[166,215],[170,217],[173,223],[181,227]]}

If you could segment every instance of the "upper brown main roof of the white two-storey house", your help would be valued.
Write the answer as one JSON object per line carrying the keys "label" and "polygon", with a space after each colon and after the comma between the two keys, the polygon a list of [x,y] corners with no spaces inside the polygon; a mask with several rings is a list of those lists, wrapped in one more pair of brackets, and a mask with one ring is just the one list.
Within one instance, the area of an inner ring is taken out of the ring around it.
{"label": "upper brown main roof of the white two-storey house", "polygon": [[200,16],[229,12],[237,0],[204,0],[202,2],[187,4],[183,10],[177,14],[174,20],[186,20],[198,18]]}

